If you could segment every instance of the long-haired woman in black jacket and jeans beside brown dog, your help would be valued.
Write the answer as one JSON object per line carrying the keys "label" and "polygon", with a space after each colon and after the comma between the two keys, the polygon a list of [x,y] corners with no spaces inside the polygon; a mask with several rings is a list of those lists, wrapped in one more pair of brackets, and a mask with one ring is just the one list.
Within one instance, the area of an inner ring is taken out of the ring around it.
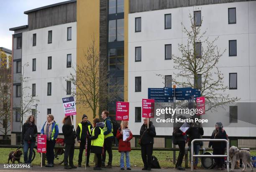
{"label": "long-haired woman in black jacket and jeans beside brown dog", "polygon": [[[23,124],[21,131],[21,144],[23,144],[24,162],[31,163],[33,149],[36,143],[37,127],[35,124],[35,117],[28,116],[27,121]],[[29,149],[29,156],[28,156]]]}

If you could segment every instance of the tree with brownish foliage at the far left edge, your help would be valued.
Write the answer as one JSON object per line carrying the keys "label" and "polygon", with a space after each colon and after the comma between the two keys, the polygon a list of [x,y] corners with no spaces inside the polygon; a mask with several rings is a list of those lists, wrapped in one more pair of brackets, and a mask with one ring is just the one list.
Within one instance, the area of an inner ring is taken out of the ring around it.
{"label": "tree with brownish foliage at the far left edge", "polygon": [[11,56],[7,56],[5,52],[0,50],[0,125],[3,126],[4,139],[7,139],[7,134],[10,132],[10,102],[11,102]]}

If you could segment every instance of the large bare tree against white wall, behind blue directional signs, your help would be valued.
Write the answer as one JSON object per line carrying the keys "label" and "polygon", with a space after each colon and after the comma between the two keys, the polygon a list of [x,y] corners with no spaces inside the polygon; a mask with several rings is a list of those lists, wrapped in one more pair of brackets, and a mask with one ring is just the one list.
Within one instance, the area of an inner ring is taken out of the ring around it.
{"label": "large bare tree against white wall, behind blue directional signs", "polygon": [[187,35],[187,43],[178,44],[181,56],[172,55],[176,69],[172,82],[178,87],[200,89],[201,96],[205,96],[206,111],[216,110],[218,107],[224,108],[225,104],[239,100],[237,97],[233,98],[225,94],[228,86],[223,84],[223,73],[217,67],[226,49],[220,51],[215,45],[218,37],[213,40],[206,37],[206,30],[201,32],[200,26],[196,25],[191,14],[189,19],[190,28],[186,28],[181,23],[183,32]]}

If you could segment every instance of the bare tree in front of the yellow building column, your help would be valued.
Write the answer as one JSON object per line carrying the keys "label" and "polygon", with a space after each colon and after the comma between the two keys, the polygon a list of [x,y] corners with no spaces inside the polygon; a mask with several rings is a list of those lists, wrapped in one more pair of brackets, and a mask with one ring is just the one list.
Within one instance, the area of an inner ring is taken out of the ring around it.
{"label": "bare tree in front of the yellow building column", "polygon": [[111,76],[108,73],[108,66],[100,61],[100,51],[95,44],[95,37],[92,36],[91,43],[84,52],[81,61],[77,62],[74,74],[65,78],[75,86],[72,88],[72,96],[76,97],[76,104],[92,110],[93,118],[99,114],[101,104],[105,106],[115,101],[121,88],[109,86]]}

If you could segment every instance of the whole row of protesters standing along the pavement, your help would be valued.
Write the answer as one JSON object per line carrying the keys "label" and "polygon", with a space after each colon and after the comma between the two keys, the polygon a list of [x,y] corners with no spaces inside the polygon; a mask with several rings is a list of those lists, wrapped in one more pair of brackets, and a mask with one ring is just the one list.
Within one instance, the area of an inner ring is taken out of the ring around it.
{"label": "whole row of protesters standing along the pavement", "polygon": [[[75,131],[74,126],[72,125],[72,118],[70,116],[65,116],[63,119],[62,132],[64,134],[64,143],[65,143],[65,152],[64,152],[64,168],[72,169],[77,168],[74,165],[74,144],[75,139],[80,144],[79,147],[79,156],[78,156],[78,167],[82,166],[82,156],[84,148],[87,147],[87,158],[86,158],[86,167],[90,167],[89,159],[90,153],[94,153],[95,167],[94,170],[101,170],[102,167],[112,168],[112,143],[114,141],[113,134],[113,123],[109,117],[108,111],[102,111],[100,119],[95,118],[93,124],[87,120],[87,115],[82,116],[81,123],[78,124]],[[182,118],[180,116],[179,118]],[[175,168],[179,170],[184,170],[182,167],[182,161],[185,153],[185,144],[188,142],[189,149],[191,148],[191,142],[193,139],[201,139],[204,134],[202,126],[198,123],[190,124],[191,127],[186,131],[182,132],[179,128],[180,126],[174,126],[173,139],[177,141],[179,146],[179,156]],[[117,131],[116,138],[118,139],[118,151],[120,152],[120,169],[125,169],[124,157],[126,160],[126,169],[131,170],[130,165],[130,156],[131,152],[131,143],[130,140],[133,138],[131,130],[127,139],[123,140],[123,129],[128,129],[128,121],[121,121],[120,128]],[[44,123],[41,129],[41,135],[46,135],[46,158],[47,164],[46,167],[54,167],[54,146],[56,139],[59,134],[59,127],[56,121],[54,121],[54,116],[52,114],[47,115],[47,121]],[[24,123],[21,134],[21,143],[24,151],[24,162],[31,163],[33,147],[36,142],[37,136],[37,127],[35,124],[35,118],[33,115],[30,115],[27,121]],[[153,122],[148,118],[143,119],[143,124],[140,129],[140,140],[141,145],[141,157],[143,160],[144,167],[142,170],[151,170],[152,167],[152,153],[153,153],[153,144],[154,137],[156,136],[156,130],[153,125]],[[222,124],[216,123],[215,130],[212,132],[211,139],[227,139],[225,130],[223,129]],[[200,146],[202,142],[195,142],[194,152],[199,154]],[[212,146],[213,154],[224,154],[225,153],[225,144],[221,142],[210,142],[209,147]],[[29,156],[28,156],[28,149]],[[105,164],[106,152],[108,152],[108,164]],[[191,153],[190,153],[191,154]],[[191,157],[191,155],[190,155]],[[224,159],[216,157],[216,169],[224,167]],[[198,158],[195,158],[194,168],[197,169]]]}

